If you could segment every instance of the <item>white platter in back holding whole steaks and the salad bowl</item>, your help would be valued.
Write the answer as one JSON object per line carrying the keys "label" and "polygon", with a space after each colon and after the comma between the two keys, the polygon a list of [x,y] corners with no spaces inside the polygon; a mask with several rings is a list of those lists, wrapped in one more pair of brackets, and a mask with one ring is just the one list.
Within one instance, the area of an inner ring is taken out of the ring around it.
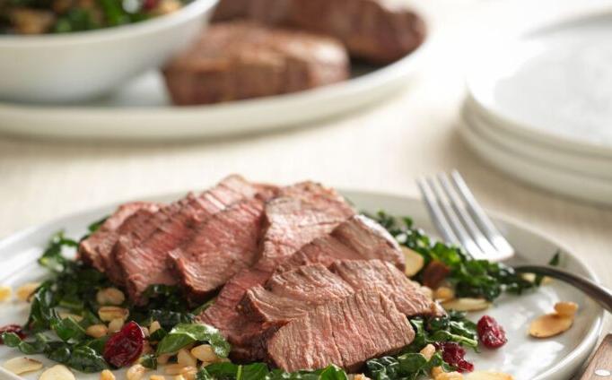
{"label": "white platter in back holding whole steaks and the salad bowl", "polygon": [[171,106],[160,75],[152,72],[93,102],[71,106],[0,103],[0,132],[57,139],[168,141],[275,130],[363,108],[398,90],[413,73],[424,48],[390,65],[369,67],[345,82],[204,106]]}

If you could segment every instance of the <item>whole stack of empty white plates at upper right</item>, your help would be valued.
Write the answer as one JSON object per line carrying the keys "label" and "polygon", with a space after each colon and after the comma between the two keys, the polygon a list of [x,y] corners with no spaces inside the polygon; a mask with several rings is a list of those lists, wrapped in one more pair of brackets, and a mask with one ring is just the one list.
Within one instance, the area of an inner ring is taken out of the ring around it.
{"label": "whole stack of empty white plates at upper right", "polygon": [[612,204],[612,13],[487,49],[468,73],[461,134],[497,168]]}

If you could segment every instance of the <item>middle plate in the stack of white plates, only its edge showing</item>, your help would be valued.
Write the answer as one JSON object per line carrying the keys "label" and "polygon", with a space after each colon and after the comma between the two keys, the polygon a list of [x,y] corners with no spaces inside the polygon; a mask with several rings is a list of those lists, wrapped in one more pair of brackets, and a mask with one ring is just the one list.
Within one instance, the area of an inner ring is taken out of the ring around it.
{"label": "middle plate in the stack of white plates, only its edge showing", "polygon": [[605,158],[597,154],[566,151],[525,138],[520,134],[511,134],[503,127],[495,127],[494,123],[501,121],[489,117],[469,95],[464,104],[463,112],[468,116],[470,126],[477,134],[516,152],[521,157],[542,162],[560,170],[570,171],[579,176],[599,177],[612,181],[612,157]]}

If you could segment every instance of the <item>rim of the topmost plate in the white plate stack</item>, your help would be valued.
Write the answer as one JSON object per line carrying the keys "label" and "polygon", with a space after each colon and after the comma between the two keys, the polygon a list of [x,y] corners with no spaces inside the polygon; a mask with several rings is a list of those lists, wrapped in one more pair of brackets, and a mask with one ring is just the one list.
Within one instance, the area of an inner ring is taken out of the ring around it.
{"label": "rim of the topmost plate in the white plate stack", "polygon": [[[545,25],[540,25],[536,28],[530,29],[520,34],[518,39],[511,39],[509,42],[512,46],[518,46],[520,44],[529,43],[530,38],[537,37],[538,34],[554,32],[564,28],[571,28],[577,25],[590,22],[598,19],[609,19],[612,18],[612,10],[609,8],[598,9],[596,11],[589,11],[578,15],[569,17],[563,17],[555,22],[547,22]],[[497,48],[498,50],[499,48]],[[478,58],[483,58],[482,55],[478,55]],[[476,62],[476,60],[474,61]],[[587,142],[585,140],[572,139],[566,137],[563,134],[553,134],[546,132],[546,130],[538,129],[529,123],[520,123],[514,120],[511,116],[503,115],[502,113],[495,113],[492,109],[485,107],[485,102],[480,101],[476,95],[477,91],[474,82],[475,76],[477,76],[477,67],[481,64],[474,65],[475,68],[471,69],[466,73],[464,84],[467,89],[467,101],[471,100],[474,105],[485,113],[487,117],[490,117],[495,121],[494,126],[503,129],[505,132],[519,135],[521,138],[536,139],[538,142],[547,145],[550,148],[564,148],[568,151],[574,151],[579,154],[593,155],[604,158],[612,158],[612,142],[611,143],[595,143]]]}

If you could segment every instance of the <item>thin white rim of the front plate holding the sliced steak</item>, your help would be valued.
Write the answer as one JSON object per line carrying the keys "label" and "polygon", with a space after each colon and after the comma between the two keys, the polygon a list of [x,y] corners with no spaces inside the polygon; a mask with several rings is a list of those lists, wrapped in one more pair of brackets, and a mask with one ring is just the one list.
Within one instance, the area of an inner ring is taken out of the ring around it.
{"label": "thin white rim of the front plate holding the sliced steak", "polygon": [[[94,205],[89,208],[82,208],[75,212],[69,212],[66,214],[62,214],[59,217],[54,218],[53,220],[48,220],[46,222],[33,225],[29,228],[18,230],[12,234],[9,234],[8,237],[0,239],[0,250],[3,250],[7,246],[10,246],[11,244],[13,244],[13,242],[27,238],[30,235],[39,235],[47,229],[52,229],[54,226],[57,226],[58,223],[64,220],[73,220],[77,218],[83,218],[84,214],[87,214],[87,213],[101,213],[104,210],[112,210],[113,208],[116,208],[119,204],[133,202],[135,199],[138,199],[141,201],[142,200],[176,199],[177,197],[187,194],[188,191],[187,192],[172,191],[172,192],[165,192],[165,193],[160,193],[160,194],[154,194],[154,193],[147,194],[142,197],[131,197],[131,199],[129,200],[124,199],[124,200],[119,200],[116,202],[102,203],[99,205]],[[420,198],[410,195],[410,194],[398,194],[398,193],[387,192],[387,191],[384,191],[384,192],[383,191],[368,191],[368,190],[356,190],[356,189],[345,189],[345,188],[338,188],[337,191],[340,194],[345,195],[347,199],[351,199],[352,195],[357,196],[357,197],[364,196],[368,198],[378,197],[378,198],[393,199],[393,202],[398,202],[398,203],[402,203],[402,202],[413,203],[415,204],[415,207],[424,207],[424,204],[422,203]],[[500,212],[487,211],[487,213],[492,217],[492,219],[496,223],[501,222],[505,225],[511,226],[512,228],[520,229],[523,231],[528,231],[529,234],[537,235],[538,238],[543,238],[547,242],[552,243],[553,245],[557,246],[566,255],[571,255],[573,261],[578,263],[581,269],[583,269],[587,273],[588,277],[591,280],[599,282],[599,276],[597,275],[597,273],[595,273],[590,268],[590,265],[586,263],[581,258],[580,255],[574,254],[573,249],[571,249],[571,247],[569,246],[566,246],[563,242],[558,241],[557,239],[550,236],[545,231],[542,231],[538,227],[529,226],[527,222],[517,220],[516,218],[512,218]],[[84,227],[85,226],[83,226],[83,228]],[[3,277],[2,280],[4,281],[5,278],[10,278],[10,277],[11,275],[9,275],[8,277]],[[603,321],[604,321],[604,317],[606,313],[605,310],[603,310],[603,308],[599,307],[599,305],[596,306],[596,310],[598,310],[599,312],[596,315],[595,323],[592,324],[590,326],[589,331],[585,333],[585,335],[582,338],[581,343],[574,350],[572,350],[566,357],[559,360],[555,364],[554,367],[551,367],[545,372],[538,374],[538,376],[536,376],[535,378],[531,380],[554,380],[555,377],[551,377],[551,376],[554,376],[556,371],[563,370],[565,367],[571,367],[573,366],[573,361],[577,360],[580,357],[586,358],[586,356],[590,354],[590,352],[594,349],[595,344],[597,343],[597,340],[599,338],[599,335],[601,334],[601,331],[603,329]],[[9,378],[12,378],[14,380],[23,380],[23,377],[15,376],[9,373],[8,371],[4,370],[3,367],[0,367],[0,375],[9,376]]]}

